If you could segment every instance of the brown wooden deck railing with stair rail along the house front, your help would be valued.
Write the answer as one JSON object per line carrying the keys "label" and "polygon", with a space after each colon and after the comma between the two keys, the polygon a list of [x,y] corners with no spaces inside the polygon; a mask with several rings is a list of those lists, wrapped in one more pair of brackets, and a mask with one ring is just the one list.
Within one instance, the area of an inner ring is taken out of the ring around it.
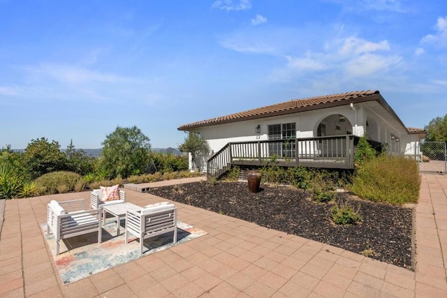
{"label": "brown wooden deck railing with stair rail along the house front", "polygon": [[[355,135],[305,137],[288,140],[230,142],[207,161],[208,177],[219,177],[231,165],[276,165],[352,169]],[[371,142],[376,147],[379,142]]]}

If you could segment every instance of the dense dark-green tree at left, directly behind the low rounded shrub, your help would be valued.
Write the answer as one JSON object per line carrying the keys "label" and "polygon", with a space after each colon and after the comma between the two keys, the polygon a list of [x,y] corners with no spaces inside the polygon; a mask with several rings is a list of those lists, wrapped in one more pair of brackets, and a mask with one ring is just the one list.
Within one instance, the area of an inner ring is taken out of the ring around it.
{"label": "dense dark-green tree at left, directly behind the low rounded shrub", "polygon": [[65,170],[65,156],[59,148],[59,142],[53,140],[50,143],[45,137],[31,140],[22,156],[23,165],[27,168],[31,179],[49,172]]}

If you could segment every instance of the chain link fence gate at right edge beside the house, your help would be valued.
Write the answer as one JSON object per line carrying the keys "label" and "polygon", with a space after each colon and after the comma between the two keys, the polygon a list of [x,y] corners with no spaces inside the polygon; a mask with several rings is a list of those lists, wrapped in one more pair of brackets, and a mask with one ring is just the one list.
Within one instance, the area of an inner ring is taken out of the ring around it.
{"label": "chain link fence gate at right edge beside the house", "polygon": [[420,142],[418,158],[420,172],[447,172],[446,143]]}

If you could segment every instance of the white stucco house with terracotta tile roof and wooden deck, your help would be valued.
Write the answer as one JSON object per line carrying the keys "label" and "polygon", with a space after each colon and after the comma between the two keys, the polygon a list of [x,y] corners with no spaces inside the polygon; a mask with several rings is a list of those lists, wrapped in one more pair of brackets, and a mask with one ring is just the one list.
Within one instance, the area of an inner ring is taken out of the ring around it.
{"label": "white stucco house with terracotta tile roof and wooden deck", "polygon": [[[379,91],[352,91],[288,100],[253,110],[184,124],[210,144],[200,171],[220,174],[228,165],[352,168],[358,138],[390,153],[418,156],[419,128],[407,128]],[[190,167],[191,158],[190,158]]]}

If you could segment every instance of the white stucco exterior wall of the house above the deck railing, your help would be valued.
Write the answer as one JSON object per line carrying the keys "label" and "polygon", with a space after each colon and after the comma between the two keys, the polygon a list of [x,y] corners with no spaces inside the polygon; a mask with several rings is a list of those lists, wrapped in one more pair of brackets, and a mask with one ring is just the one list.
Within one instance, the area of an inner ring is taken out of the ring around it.
{"label": "white stucco exterior wall of the house above the deck railing", "polygon": [[[346,118],[338,121],[339,115]],[[223,148],[228,142],[246,142],[256,140],[268,140],[268,126],[272,124],[295,123],[296,137],[316,137],[320,123],[326,124],[326,135],[346,135],[352,133],[362,137],[367,135],[371,140],[386,143],[387,151],[404,152],[414,148],[414,142],[418,142],[418,135],[409,135],[405,128],[393,128],[384,121],[380,115],[370,110],[365,103],[359,103],[353,107],[349,105],[330,107],[284,116],[254,119],[229,124],[207,126],[194,130],[200,133],[210,144],[210,155],[201,156],[198,163],[199,170],[206,171],[206,161]],[[255,128],[260,126],[261,133],[256,134]],[[339,126],[339,129],[337,129]],[[405,131],[405,132],[404,132]],[[400,142],[391,140],[391,135],[399,137]],[[413,146],[413,147],[411,147]],[[199,158],[198,158],[199,159]],[[191,168],[191,157],[190,157]]]}

